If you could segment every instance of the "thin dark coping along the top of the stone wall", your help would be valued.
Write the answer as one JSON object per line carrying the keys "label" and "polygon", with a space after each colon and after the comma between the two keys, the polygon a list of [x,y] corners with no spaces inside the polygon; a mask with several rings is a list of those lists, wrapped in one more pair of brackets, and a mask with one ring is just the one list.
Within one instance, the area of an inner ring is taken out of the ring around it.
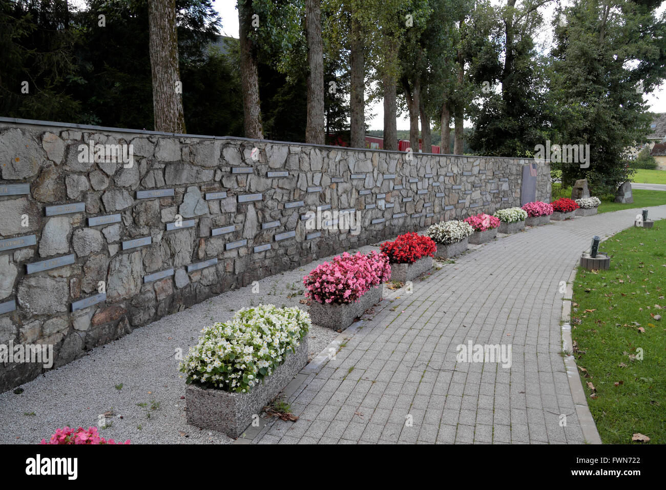
{"label": "thin dark coping along the top of the stone wall", "polygon": [[[202,138],[202,139],[220,139],[220,140],[233,140],[233,141],[257,141],[259,143],[278,143],[282,145],[298,145],[298,146],[310,146],[316,148],[326,148],[326,149],[346,149],[346,150],[355,150],[355,151],[377,151],[383,153],[399,153],[404,155],[404,151],[397,150],[383,150],[383,149],[373,149],[373,148],[352,148],[352,147],[341,147],[335,145],[316,145],[314,143],[298,143],[296,141],[275,141],[272,139],[252,139],[252,138],[243,138],[239,136],[206,136],[206,135],[186,135],[180,133],[164,133],[163,131],[147,131],[145,129],[128,129],[122,127],[105,127],[105,126],[93,126],[90,124],[73,124],[73,123],[57,123],[55,121],[38,121],[37,119],[19,119],[15,117],[2,117],[0,116],[0,123],[15,123],[15,124],[30,124],[35,126],[55,126],[55,127],[64,127],[64,128],[73,128],[73,129],[91,129],[93,131],[110,131],[114,133],[137,133],[141,135],[158,135],[158,136],[172,136],[178,138]],[[435,157],[458,157],[458,158],[510,158],[517,160],[534,160],[533,158],[527,157],[490,157],[483,155],[450,155],[448,153],[425,153],[425,152],[414,152],[412,155],[433,155]]]}

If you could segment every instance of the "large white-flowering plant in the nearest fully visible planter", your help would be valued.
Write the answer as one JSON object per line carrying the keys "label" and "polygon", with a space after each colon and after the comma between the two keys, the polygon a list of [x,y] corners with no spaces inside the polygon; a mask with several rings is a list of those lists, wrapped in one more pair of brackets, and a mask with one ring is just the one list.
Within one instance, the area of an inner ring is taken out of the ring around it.
{"label": "large white-flowering plant in the nearest fully visible planter", "polygon": [[270,376],[310,330],[298,308],[259,305],[236,311],[226,323],[204,328],[180,363],[186,383],[246,393]]}

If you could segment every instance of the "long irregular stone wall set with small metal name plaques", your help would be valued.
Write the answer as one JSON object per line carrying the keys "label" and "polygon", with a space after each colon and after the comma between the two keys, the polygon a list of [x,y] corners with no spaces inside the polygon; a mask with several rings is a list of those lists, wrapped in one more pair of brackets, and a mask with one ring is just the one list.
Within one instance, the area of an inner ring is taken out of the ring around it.
{"label": "long irregular stone wall set with small metal name plaques", "polygon": [[[81,161],[91,139],[133,165]],[[266,275],[519,205],[529,162],[0,118],[0,345],[53,345],[58,367]],[[360,211],[360,233],[308,229],[318,207]],[[0,364],[0,391],[43,370]]]}

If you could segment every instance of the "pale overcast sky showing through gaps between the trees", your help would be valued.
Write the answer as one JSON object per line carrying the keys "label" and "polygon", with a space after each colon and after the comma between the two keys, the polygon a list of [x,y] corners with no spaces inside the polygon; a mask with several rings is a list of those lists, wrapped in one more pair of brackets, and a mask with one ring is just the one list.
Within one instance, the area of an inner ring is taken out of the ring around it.
{"label": "pale overcast sky showing through gaps between the trees", "polygon": [[[222,17],[222,33],[230,37],[238,38],[238,10],[236,10],[236,0],[213,0],[213,6]],[[553,11],[555,5],[543,11],[544,17]],[[660,7],[665,8],[665,5]],[[539,39],[541,43],[549,43],[551,35],[549,31],[543,31],[543,37]],[[649,103],[651,111],[653,112],[666,112],[666,85],[662,83],[661,87],[654,93],[643,95],[645,100]],[[370,106],[366,112],[375,114],[373,119],[366,121],[370,129],[383,129],[384,127],[384,106],[382,101]],[[398,129],[409,129],[410,121],[408,115],[398,117]]]}

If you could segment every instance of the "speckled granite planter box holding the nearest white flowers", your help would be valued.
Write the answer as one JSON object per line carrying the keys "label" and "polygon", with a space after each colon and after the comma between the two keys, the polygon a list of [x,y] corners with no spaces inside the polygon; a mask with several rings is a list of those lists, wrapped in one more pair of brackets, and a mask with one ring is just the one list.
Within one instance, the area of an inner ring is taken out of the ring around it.
{"label": "speckled granite planter box holding the nearest white flowers", "polygon": [[258,415],[272,399],[308,363],[308,339],[304,337],[289,351],[284,363],[272,375],[264,378],[248,393],[235,393],[221,389],[206,389],[198,385],[187,385],[185,402],[187,423],[201,429],[212,429],[236,439],[252,423],[252,415]]}

